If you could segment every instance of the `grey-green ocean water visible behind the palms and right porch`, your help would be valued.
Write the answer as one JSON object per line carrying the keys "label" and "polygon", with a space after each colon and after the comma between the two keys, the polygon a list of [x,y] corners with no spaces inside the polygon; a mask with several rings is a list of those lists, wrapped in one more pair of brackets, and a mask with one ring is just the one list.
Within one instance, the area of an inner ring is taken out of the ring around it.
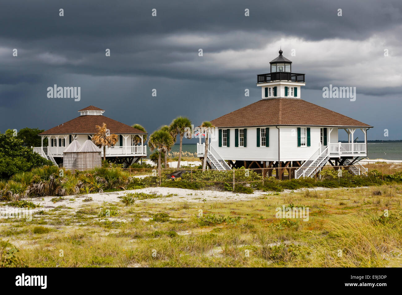
{"label": "grey-green ocean water visible behind the palms and right porch", "polygon": [[[367,144],[368,159],[402,160],[402,142],[381,142]],[[178,152],[179,144],[174,144],[172,151]],[[197,152],[197,144],[183,144],[183,151]]]}

